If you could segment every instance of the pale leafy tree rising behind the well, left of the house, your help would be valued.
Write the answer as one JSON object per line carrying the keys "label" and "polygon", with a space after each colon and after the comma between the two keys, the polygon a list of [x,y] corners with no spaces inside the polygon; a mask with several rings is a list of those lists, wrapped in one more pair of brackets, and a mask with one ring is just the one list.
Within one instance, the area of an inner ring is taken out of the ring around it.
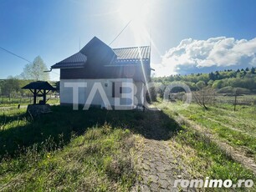
{"label": "pale leafy tree rising behind the well, left of the house", "polygon": [[38,56],[33,59],[33,63],[28,63],[25,68],[23,68],[23,73],[21,73],[21,77],[29,80],[36,81],[48,81],[49,73],[44,73],[48,68],[44,63],[44,60]]}

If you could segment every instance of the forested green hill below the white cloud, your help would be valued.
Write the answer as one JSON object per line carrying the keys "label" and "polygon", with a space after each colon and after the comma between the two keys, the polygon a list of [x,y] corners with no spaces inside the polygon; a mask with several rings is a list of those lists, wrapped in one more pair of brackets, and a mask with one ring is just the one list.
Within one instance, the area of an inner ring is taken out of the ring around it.
{"label": "forested green hill below the white cloud", "polygon": [[204,82],[212,88],[246,88],[256,89],[256,68],[216,71],[212,73],[192,73],[187,75],[171,75],[169,77],[152,78],[156,83],[171,83],[182,81],[187,83],[192,90],[197,90],[197,83]]}

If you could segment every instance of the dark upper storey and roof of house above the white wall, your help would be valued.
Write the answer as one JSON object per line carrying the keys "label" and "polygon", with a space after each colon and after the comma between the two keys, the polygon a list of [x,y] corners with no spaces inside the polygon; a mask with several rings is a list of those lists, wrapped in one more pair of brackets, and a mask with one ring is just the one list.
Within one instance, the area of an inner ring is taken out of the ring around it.
{"label": "dark upper storey and roof of house above the white wall", "polygon": [[[112,49],[95,37],[52,68],[60,68],[60,79],[133,78],[146,83],[151,76],[150,52],[149,46]],[[77,58],[84,58],[79,68]]]}

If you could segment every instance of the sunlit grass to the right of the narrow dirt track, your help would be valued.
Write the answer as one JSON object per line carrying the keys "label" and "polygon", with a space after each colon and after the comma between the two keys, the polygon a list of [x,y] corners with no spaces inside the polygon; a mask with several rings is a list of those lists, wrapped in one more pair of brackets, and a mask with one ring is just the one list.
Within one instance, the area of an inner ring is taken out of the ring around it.
{"label": "sunlit grass to the right of the narrow dirt track", "polygon": [[187,109],[178,110],[178,113],[211,130],[228,144],[243,148],[249,156],[253,155],[256,159],[256,107],[239,107],[237,112],[233,112],[230,105],[226,109],[211,107],[204,110],[191,104]]}

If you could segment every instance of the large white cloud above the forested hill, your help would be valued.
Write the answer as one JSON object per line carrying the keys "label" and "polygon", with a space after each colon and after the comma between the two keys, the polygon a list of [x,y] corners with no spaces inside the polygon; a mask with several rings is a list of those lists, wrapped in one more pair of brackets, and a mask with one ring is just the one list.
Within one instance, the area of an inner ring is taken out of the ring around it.
{"label": "large white cloud above the forested hill", "polygon": [[189,73],[190,69],[256,66],[256,38],[209,38],[207,40],[183,39],[161,56],[161,63],[152,64],[156,76]]}

